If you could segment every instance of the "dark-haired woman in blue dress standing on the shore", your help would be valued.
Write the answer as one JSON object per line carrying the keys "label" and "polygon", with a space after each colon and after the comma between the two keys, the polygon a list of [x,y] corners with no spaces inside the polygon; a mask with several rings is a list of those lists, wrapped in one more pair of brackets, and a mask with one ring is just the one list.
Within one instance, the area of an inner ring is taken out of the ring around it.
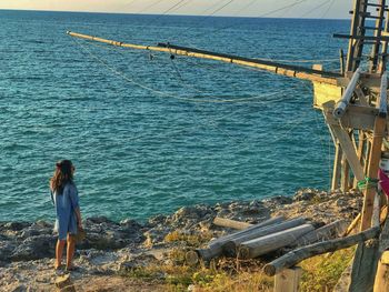
{"label": "dark-haired woman in blue dress standing on the shore", "polygon": [[56,270],[61,268],[64,243],[68,243],[66,269],[67,271],[73,270],[71,261],[74,254],[74,235],[79,229],[82,230],[79,197],[73,182],[74,170],[70,160],[61,160],[57,162],[54,174],[50,180],[51,199],[57,211]]}

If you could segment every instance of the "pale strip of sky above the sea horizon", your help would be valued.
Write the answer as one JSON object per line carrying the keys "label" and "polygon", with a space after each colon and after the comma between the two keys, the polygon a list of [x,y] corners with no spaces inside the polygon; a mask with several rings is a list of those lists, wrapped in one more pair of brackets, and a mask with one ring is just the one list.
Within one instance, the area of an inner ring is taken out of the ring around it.
{"label": "pale strip of sky above the sea horizon", "polygon": [[351,7],[352,0],[0,0],[0,9],[17,10],[331,19],[349,19]]}

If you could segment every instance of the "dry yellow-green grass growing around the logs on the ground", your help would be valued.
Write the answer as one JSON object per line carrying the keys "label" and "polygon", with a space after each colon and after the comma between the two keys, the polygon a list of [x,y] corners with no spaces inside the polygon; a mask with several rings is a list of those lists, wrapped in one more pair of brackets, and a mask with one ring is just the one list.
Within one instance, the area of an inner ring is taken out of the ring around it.
{"label": "dry yellow-green grass growing around the logs on the ground", "polygon": [[[169,254],[170,261],[167,264],[136,269],[123,275],[164,283],[166,291],[272,291],[273,278],[261,272],[265,262],[260,260],[238,261],[221,258],[194,268],[186,265],[186,251],[203,244],[209,240],[208,234],[196,236],[172,232],[164,240],[184,242],[188,248],[172,249]],[[331,291],[350,262],[353,250],[347,249],[331,256],[320,255],[301,262],[303,273],[300,291]]]}

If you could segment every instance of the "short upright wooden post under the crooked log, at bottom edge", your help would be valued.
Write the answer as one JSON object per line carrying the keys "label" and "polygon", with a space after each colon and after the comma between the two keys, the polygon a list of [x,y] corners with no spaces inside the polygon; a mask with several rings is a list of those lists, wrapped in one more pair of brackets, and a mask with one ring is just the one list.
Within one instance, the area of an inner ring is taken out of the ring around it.
{"label": "short upright wooden post under the crooked log, at bottom edge", "polygon": [[302,269],[293,266],[275,276],[275,292],[298,292]]}

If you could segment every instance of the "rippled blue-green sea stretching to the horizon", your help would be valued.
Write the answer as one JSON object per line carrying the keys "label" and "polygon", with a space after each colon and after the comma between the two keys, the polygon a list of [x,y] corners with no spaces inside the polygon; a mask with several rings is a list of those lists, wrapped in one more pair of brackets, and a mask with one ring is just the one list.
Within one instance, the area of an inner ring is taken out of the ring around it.
{"label": "rippled blue-green sea stretching to the horizon", "polygon": [[0,11],[0,221],[52,219],[48,183],[63,158],[76,164],[83,215],[113,220],[329,188],[332,142],[309,82],[67,30],[339,70],[347,43],[331,34],[348,27]]}

